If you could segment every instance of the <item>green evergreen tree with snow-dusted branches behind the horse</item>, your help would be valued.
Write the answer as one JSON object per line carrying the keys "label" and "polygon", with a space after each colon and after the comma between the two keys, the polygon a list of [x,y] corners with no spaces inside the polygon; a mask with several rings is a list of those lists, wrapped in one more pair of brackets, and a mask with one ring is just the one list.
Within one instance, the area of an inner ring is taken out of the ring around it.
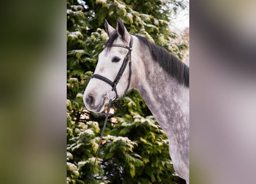
{"label": "green evergreen tree with snow-dusted branches behind the horse", "polygon": [[[172,8],[170,9],[169,5]],[[186,45],[169,29],[176,1],[67,0],[67,183],[87,183],[104,117],[88,112],[83,91],[108,35],[104,20],[120,17],[180,59]],[[182,183],[175,177],[165,133],[136,90],[113,102],[92,183]]]}

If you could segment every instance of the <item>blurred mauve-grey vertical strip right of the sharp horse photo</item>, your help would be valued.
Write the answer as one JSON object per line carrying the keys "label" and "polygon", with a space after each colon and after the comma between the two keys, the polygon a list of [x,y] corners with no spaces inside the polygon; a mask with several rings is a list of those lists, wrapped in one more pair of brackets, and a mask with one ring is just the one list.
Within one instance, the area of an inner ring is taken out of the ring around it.
{"label": "blurred mauve-grey vertical strip right of the sharp horse photo", "polygon": [[190,2],[191,183],[255,183],[255,1]]}

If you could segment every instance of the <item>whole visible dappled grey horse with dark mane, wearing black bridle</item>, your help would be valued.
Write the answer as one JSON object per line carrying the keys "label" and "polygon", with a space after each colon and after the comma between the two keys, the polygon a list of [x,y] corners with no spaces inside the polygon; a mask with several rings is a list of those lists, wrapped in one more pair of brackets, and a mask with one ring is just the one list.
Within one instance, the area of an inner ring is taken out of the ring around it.
{"label": "whole visible dappled grey horse with dark mane, wearing black bridle", "polygon": [[86,108],[100,113],[108,99],[136,89],[169,139],[175,173],[188,184],[189,67],[146,37],[129,34],[120,18],[116,29],[105,20],[105,30],[109,39],[83,94]]}

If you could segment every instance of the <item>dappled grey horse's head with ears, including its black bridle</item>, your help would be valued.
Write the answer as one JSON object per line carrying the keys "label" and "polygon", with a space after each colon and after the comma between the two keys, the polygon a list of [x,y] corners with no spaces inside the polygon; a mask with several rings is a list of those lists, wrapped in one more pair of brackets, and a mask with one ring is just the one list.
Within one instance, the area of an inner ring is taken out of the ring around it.
{"label": "dappled grey horse's head with ears, including its black bridle", "polygon": [[104,50],[98,56],[98,63],[91,76],[83,102],[88,110],[100,113],[108,99],[117,99],[131,89],[132,36],[119,18],[116,29],[105,21],[109,36]]}

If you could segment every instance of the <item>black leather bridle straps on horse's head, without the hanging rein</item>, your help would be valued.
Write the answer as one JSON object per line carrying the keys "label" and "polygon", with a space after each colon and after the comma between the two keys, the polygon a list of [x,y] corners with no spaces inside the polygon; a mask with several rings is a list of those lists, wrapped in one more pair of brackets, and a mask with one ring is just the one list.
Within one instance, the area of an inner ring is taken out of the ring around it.
{"label": "black leather bridle straps on horse's head, without the hanging rein", "polygon": [[[119,72],[116,75],[116,78],[114,79],[114,81],[110,81],[108,78],[106,78],[105,76],[102,75],[98,75],[98,74],[93,74],[91,75],[91,78],[96,78],[96,79],[100,79],[101,81],[104,81],[106,83],[108,83],[111,87],[112,87],[112,91],[114,91],[114,93],[116,94],[116,96],[114,97],[114,99],[119,99],[119,95],[117,94],[117,90],[116,90],[116,86],[119,83],[121,76],[124,73],[124,70],[129,62],[129,78],[128,78],[128,85],[127,88],[125,90],[124,93],[126,93],[129,89],[130,86],[130,82],[131,82],[131,75],[132,75],[132,57],[131,57],[131,53],[132,53],[132,36],[131,36],[131,41],[129,43],[129,47],[125,46],[125,45],[121,45],[121,44],[112,44],[111,47],[121,47],[121,48],[125,48],[128,49],[128,53],[127,55],[124,57],[123,63],[119,69]],[[114,100],[112,99],[112,100]]]}

